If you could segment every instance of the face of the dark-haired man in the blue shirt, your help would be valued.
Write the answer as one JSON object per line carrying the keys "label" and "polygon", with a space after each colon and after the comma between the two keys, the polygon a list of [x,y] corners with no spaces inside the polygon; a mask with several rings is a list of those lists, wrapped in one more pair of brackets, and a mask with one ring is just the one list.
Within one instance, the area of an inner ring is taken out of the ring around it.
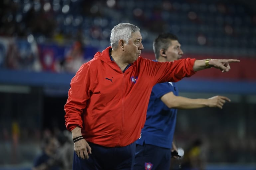
{"label": "face of the dark-haired man in the blue shirt", "polygon": [[171,45],[165,51],[166,60],[172,62],[181,59],[183,51],[181,50],[181,44],[177,40],[171,40]]}

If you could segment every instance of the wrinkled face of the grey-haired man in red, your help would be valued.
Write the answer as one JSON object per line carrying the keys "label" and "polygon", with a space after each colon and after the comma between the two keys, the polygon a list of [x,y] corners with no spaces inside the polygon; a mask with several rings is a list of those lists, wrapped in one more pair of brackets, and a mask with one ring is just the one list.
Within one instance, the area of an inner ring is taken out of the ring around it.
{"label": "wrinkled face of the grey-haired man in red", "polygon": [[141,55],[141,50],[143,50],[142,36],[140,32],[134,32],[128,43],[124,43],[125,61],[127,63],[136,61]]}

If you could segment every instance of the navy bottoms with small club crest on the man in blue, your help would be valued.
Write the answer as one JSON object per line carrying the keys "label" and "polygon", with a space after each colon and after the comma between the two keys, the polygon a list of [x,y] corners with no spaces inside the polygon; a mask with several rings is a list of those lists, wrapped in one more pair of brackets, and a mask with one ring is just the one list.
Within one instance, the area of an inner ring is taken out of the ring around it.
{"label": "navy bottoms with small club crest on the man in blue", "polygon": [[136,145],[134,170],[169,170],[171,149],[154,145]]}

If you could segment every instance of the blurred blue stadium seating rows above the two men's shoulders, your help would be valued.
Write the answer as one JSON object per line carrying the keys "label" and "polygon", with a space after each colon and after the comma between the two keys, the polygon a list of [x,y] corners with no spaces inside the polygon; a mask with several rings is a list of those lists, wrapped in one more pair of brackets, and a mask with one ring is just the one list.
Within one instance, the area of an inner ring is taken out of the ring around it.
{"label": "blurred blue stadium seating rows above the two men's shoulders", "polygon": [[[256,14],[242,1],[4,0],[0,36],[37,43],[109,45],[112,27],[131,22],[141,28],[145,50],[160,32],[176,34],[192,54],[255,57]],[[154,24],[152,24],[154,23]],[[240,49],[236,49],[240,47]]]}

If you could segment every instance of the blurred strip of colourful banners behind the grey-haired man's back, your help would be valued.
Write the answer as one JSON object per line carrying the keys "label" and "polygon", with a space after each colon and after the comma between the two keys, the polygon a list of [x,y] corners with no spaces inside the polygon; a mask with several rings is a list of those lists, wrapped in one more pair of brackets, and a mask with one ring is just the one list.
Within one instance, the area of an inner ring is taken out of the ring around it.
{"label": "blurred strip of colourful banners behind the grey-haired man's back", "polygon": [[27,40],[0,37],[0,67],[26,71],[75,73],[98,51],[83,47],[78,41],[70,45],[37,44]]}

